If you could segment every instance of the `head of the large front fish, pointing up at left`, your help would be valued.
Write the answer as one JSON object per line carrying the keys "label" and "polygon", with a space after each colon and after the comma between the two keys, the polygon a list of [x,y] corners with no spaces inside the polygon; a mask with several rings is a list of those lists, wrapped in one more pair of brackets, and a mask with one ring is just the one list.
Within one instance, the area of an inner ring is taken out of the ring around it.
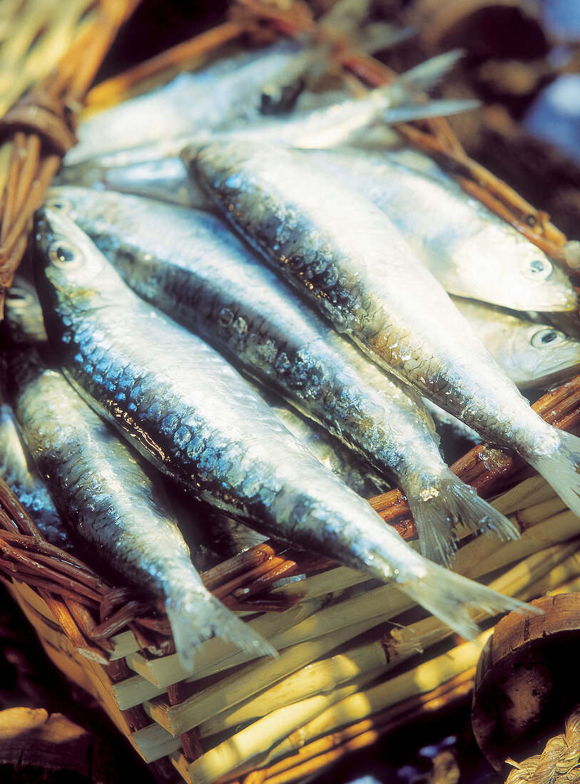
{"label": "head of the large front fish, pointing up at left", "polygon": [[38,210],[35,240],[35,275],[45,318],[53,310],[93,310],[123,290],[119,274],[65,212]]}

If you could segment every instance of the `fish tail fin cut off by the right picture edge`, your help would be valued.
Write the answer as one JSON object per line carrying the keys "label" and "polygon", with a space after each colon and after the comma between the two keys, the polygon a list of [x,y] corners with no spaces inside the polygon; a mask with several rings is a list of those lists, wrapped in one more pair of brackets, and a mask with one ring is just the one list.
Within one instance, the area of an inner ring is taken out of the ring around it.
{"label": "fish tail fin cut off by the right picture edge", "polygon": [[550,430],[550,441],[556,435],[553,450],[522,451],[522,456],[580,517],[580,438],[547,424],[546,427]]}

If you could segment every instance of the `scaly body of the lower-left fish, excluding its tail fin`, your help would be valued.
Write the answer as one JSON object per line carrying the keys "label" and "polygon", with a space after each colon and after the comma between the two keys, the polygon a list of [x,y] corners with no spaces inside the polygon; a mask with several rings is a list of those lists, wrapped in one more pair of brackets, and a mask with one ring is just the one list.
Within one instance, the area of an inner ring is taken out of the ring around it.
{"label": "scaly body of the lower-left fish, excluding its tail fin", "polygon": [[189,585],[201,597],[188,548],[150,481],[60,373],[39,369],[16,391],[16,412],[60,513],[100,556],[155,593]]}

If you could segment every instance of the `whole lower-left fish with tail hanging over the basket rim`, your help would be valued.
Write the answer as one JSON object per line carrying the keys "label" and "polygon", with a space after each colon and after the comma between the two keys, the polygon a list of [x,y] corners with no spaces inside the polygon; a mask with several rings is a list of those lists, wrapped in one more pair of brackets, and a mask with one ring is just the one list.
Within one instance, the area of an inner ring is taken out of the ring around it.
{"label": "whole lower-left fish with tail hanging over the basket rim", "polygon": [[159,488],[33,347],[12,356],[9,385],[27,447],[60,516],[116,572],[163,601],[184,666],[192,668],[195,647],[213,634],[256,655],[274,655],[206,590]]}

